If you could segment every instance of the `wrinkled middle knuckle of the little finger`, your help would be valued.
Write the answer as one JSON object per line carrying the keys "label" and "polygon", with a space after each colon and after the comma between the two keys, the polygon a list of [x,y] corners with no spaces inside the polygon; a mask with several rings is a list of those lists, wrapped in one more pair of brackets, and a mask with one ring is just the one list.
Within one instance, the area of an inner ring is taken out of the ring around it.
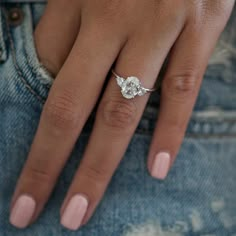
{"label": "wrinkled middle knuckle of the little finger", "polygon": [[163,81],[163,92],[175,100],[185,100],[193,96],[198,88],[199,78],[194,74],[170,76]]}

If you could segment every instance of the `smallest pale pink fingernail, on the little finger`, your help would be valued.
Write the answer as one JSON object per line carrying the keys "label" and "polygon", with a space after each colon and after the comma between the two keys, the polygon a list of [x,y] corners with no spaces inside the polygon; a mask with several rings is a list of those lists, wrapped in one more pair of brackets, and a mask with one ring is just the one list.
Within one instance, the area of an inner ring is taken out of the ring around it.
{"label": "smallest pale pink fingernail, on the little finger", "polygon": [[153,161],[151,175],[157,179],[165,179],[170,167],[170,154],[167,152],[158,153]]}

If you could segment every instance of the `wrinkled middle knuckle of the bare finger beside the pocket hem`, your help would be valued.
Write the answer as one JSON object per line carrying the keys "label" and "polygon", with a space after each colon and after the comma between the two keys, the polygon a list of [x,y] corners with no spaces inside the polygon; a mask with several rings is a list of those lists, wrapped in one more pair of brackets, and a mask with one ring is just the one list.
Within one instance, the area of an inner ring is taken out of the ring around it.
{"label": "wrinkled middle knuckle of the bare finger beside the pocket hem", "polygon": [[45,117],[47,122],[55,128],[72,130],[77,127],[79,112],[69,91],[64,90],[59,95],[47,101]]}

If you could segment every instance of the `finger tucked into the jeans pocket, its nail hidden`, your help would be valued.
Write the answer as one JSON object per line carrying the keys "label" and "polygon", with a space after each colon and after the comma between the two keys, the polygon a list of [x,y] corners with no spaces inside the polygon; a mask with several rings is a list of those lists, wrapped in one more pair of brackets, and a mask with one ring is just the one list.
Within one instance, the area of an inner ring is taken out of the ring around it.
{"label": "finger tucked into the jeans pocket, its nail hidden", "polygon": [[80,2],[48,1],[35,29],[38,57],[53,76],[61,69],[79,33]]}

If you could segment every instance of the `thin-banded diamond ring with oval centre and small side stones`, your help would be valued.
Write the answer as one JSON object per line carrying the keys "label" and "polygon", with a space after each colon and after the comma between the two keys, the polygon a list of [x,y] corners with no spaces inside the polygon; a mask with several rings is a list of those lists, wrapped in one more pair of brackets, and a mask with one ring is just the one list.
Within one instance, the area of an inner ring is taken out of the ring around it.
{"label": "thin-banded diamond ring with oval centre and small side stones", "polygon": [[129,76],[126,79],[122,78],[114,70],[111,71],[116,78],[117,84],[121,88],[121,94],[126,99],[134,98],[135,96],[143,96],[148,92],[157,90],[156,88],[144,88],[140,80],[135,76]]}

